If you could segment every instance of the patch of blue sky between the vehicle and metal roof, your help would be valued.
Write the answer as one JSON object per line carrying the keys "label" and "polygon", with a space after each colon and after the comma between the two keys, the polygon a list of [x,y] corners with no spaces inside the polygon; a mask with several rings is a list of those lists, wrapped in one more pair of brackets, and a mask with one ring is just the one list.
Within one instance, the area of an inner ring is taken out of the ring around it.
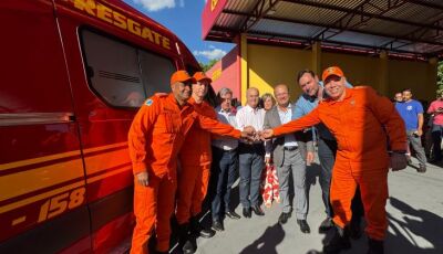
{"label": "patch of blue sky between the vehicle and metal roof", "polygon": [[173,31],[198,62],[220,59],[234,44],[202,40],[202,12],[205,0],[124,0],[151,19]]}

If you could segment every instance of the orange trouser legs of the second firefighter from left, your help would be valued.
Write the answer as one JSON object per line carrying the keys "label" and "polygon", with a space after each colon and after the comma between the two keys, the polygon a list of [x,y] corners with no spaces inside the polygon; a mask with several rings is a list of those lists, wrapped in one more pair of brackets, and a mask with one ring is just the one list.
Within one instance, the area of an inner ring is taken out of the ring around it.
{"label": "orange trouser legs of the second firefighter from left", "polygon": [[178,224],[189,222],[190,216],[202,212],[202,203],[206,197],[210,177],[210,163],[202,166],[184,166],[178,174],[177,211]]}

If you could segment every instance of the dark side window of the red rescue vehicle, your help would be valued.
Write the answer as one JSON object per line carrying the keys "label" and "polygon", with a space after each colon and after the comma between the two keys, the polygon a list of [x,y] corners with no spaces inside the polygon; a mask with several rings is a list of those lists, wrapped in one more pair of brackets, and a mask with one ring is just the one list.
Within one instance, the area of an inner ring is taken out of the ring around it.
{"label": "dark side window of the red rescue vehicle", "polygon": [[171,60],[89,30],[81,35],[90,85],[109,105],[140,107],[154,93],[171,91]]}

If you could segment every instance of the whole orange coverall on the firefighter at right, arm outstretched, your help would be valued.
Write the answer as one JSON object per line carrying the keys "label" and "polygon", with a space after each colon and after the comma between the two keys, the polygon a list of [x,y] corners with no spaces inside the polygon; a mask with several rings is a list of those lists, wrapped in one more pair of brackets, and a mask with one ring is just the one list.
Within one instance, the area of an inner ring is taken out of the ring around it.
{"label": "whole orange coverall on the firefighter at right, arm outstretched", "polygon": [[[360,186],[369,237],[383,240],[388,227],[389,154],[405,150],[406,131],[393,104],[370,87],[346,88],[341,102],[326,99],[310,114],[274,129],[279,136],[323,123],[338,141],[330,202],[333,222],[344,227],[351,220],[351,200]],[[383,126],[387,131],[383,130]]]}

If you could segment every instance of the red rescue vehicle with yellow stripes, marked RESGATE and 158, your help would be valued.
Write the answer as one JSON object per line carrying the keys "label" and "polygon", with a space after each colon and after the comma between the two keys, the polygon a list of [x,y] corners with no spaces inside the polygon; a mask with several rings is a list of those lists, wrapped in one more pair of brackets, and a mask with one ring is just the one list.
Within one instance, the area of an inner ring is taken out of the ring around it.
{"label": "red rescue vehicle with yellow stripes, marked RESGATE and 158", "polygon": [[131,121],[196,60],[120,0],[2,0],[0,18],[0,253],[124,252]]}

